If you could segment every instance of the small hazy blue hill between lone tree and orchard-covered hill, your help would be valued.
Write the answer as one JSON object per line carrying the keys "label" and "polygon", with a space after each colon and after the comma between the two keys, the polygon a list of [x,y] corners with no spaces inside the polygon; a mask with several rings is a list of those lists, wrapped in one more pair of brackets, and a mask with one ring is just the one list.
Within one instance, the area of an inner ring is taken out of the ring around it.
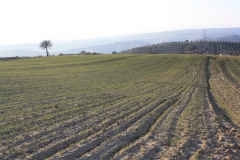
{"label": "small hazy blue hill between lone tree and orchard-covered hill", "polygon": [[68,53],[80,53],[81,51],[85,52],[97,52],[97,53],[112,53],[113,51],[121,52],[123,50],[141,47],[145,45],[149,45],[150,43],[142,42],[142,41],[124,41],[124,42],[116,42],[106,45],[98,45],[91,46],[86,48],[76,48],[72,50],[68,50]]}

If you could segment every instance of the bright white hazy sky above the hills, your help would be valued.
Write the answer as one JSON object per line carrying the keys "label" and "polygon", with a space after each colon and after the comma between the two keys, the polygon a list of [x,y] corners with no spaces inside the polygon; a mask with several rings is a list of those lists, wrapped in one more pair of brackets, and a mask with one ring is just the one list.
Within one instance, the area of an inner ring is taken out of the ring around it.
{"label": "bright white hazy sky above the hills", "polygon": [[0,45],[240,27],[240,0],[2,0]]}

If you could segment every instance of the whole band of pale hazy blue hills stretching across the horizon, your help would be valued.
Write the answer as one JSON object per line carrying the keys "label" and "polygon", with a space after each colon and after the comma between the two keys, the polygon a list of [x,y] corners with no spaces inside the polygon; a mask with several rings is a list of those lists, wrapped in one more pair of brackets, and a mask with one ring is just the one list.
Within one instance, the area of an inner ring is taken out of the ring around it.
{"label": "whole band of pale hazy blue hills stretching across the horizon", "polygon": [[[224,40],[239,42],[240,28],[211,28],[206,29],[205,31],[206,37],[209,37],[209,39],[207,40]],[[111,53],[112,51],[121,52],[122,50],[136,48],[137,44],[147,45],[172,41],[195,41],[202,38],[203,29],[186,29],[62,42],[53,41],[53,47],[50,50],[50,54],[56,55],[59,53],[66,54],[71,52],[79,53],[79,51],[81,52],[82,50],[98,53]],[[134,44],[135,42],[136,44]],[[29,52],[10,52],[9,50],[28,50]],[[0,45],[0,57],[38,56],[40,52],[44,55],[43,50],[39,48],[39,43]]]}

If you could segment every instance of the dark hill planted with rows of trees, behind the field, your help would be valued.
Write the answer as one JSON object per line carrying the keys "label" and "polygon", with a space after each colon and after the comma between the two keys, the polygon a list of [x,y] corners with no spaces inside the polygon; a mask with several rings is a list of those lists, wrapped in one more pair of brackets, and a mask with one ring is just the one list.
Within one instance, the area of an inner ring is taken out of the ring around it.
{"label": "dark hill planted with rows of trees, behind the field", "polygon": [[121,53],[151,54],[231,54],[240,55],[240,42],[229,41],[178,41],[132,48]]}

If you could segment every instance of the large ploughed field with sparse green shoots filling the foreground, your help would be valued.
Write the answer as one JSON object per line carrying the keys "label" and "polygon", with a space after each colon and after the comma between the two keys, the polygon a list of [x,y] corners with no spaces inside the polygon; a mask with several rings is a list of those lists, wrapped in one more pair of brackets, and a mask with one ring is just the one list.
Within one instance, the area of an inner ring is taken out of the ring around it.
{"label": "large ploughed field with sparse green shoots filling the foreground", "polygon": [[0,60],[0,159],[239,159],[240,57]]}

